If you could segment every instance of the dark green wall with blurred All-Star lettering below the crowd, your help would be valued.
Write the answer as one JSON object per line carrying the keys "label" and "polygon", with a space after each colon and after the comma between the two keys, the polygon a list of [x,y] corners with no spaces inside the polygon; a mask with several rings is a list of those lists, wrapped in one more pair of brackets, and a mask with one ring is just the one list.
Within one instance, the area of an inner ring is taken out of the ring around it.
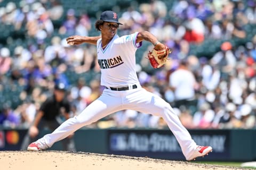
{"label": "dark green wall with blurred All-Star lettering below the crowd", "polygon": [[[41,137],[50,131],[44,130]],[[256,160],[256,130],[189,130],[198,145],[213,152],[197,160]],[[0,129],[0,150],[20,150],[27,129]],[[77,151],[158,159],[185,160],[179,143],[169,130],[80,129],[74,135]],[[49,150],[62,150],[61,142]]]}

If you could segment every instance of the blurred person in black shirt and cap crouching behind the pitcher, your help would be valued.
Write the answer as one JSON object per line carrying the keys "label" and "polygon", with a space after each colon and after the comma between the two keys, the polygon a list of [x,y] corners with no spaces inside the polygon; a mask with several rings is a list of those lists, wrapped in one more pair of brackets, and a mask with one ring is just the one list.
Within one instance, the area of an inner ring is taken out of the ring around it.
{"label": "blurred person in black shirt and cap crouching behind the pitcher", "polygon": [[[70,103],[65,98],[66,86],[64,83],[57,83],[54,86],[53,95],[47,98],[39,108],[28,134],[23,140],[21,150],[26,150],[29,143],[38,139],[39,131],[48,128],[54,131],[63,122],[62,118],[70,118]],[[62,141],[63,149],[75,151],[74,141],[70,135]]]}

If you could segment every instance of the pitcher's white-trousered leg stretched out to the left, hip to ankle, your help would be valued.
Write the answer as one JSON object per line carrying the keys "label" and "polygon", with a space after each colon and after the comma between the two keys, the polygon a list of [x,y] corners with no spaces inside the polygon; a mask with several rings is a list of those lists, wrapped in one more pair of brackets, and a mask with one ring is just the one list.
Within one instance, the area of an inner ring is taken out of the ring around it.
{"label": "pitcher's white-trousered leg stretched out to the left, hip to ankle", "polygon": [[39,139],[38,142],[41,143],[42,149],[50,148],[55,142],[68,137],[68,135],[83,126],[96,122],[100,118],[117,112],[120,109],[121,99],[119,97],[103,93],[97,100],[94,100],[87,106],[81,114],[69,118],[52,133],[46,134],[43,138]]}

